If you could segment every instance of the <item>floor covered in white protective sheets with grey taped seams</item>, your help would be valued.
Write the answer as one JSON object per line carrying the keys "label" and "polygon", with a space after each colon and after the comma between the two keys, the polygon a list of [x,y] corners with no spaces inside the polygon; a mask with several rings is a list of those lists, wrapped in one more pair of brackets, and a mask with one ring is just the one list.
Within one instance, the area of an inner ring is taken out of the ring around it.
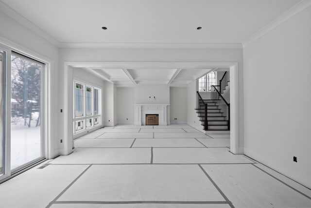
{"label": "floor covered in white protective sheets with grey taped seams", "polygon": [[311,208],[310,189],[232,154],[229,137],[188,125],[103,128],[0,184],[0,208]]}

